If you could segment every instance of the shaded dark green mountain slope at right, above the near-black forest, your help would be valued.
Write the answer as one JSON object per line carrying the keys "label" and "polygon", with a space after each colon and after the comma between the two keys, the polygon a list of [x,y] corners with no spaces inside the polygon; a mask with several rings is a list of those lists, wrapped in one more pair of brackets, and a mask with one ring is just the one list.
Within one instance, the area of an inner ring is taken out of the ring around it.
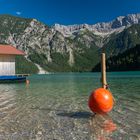
{"label": "shaded dark green mountain slope at right, above the near-black forest", "polygon": [[137,44],[140,44],[140,24],[134,24],[119,34],[112,34],[102,49],[110,57],[135,47]]}

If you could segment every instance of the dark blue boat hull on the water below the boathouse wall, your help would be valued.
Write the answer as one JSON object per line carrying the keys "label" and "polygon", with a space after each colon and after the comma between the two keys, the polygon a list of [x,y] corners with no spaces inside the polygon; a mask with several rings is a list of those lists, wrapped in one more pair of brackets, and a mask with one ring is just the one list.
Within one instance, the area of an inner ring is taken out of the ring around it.
{"label": "dark blue boat hull on the water below the boathouse wall", "polygon": [[26,81],[24,75],[6,75],[0,76],[0,83],[21,83]]}

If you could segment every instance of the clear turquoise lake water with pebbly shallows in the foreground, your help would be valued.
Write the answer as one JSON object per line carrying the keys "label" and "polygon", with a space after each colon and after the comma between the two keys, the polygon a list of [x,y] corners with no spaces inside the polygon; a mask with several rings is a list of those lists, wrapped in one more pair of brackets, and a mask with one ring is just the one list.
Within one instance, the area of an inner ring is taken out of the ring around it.
{"label": "clear turquoise lake water with pebbly shallows in the foreground", "polygon": [[32,75],[30,85],[0,84],[0,140],[138,140],[140,72],[107,73],[116,103],[94,115],[87,102],[100,73]]}

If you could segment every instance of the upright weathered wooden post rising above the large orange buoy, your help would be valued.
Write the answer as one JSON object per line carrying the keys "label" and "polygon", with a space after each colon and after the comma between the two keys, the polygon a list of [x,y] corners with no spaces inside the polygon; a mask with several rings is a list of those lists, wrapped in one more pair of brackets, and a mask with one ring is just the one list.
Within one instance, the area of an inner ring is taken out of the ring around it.
{"label": "upright weathered wooden post rising above the large orange buoy", "polygon": [[105,53],[101,55],[101,72],[102,72],[102,87],[106,89],[106,60],[105,60]]}

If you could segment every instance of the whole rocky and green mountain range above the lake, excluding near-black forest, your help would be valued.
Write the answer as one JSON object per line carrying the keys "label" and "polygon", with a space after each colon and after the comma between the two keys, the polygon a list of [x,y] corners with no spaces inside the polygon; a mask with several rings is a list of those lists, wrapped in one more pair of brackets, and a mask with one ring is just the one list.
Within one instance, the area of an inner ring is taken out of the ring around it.
{"label": "whole rocky and green mountain range above the lake, excluding near-black forest", "polygon": [[36,19],[0,15],[0,43],[25,51],[35,71],[91,71],[102,51],[110,57],[139,44],[139,23],[140,14],[131,14],[95,25],[49,27]]}

